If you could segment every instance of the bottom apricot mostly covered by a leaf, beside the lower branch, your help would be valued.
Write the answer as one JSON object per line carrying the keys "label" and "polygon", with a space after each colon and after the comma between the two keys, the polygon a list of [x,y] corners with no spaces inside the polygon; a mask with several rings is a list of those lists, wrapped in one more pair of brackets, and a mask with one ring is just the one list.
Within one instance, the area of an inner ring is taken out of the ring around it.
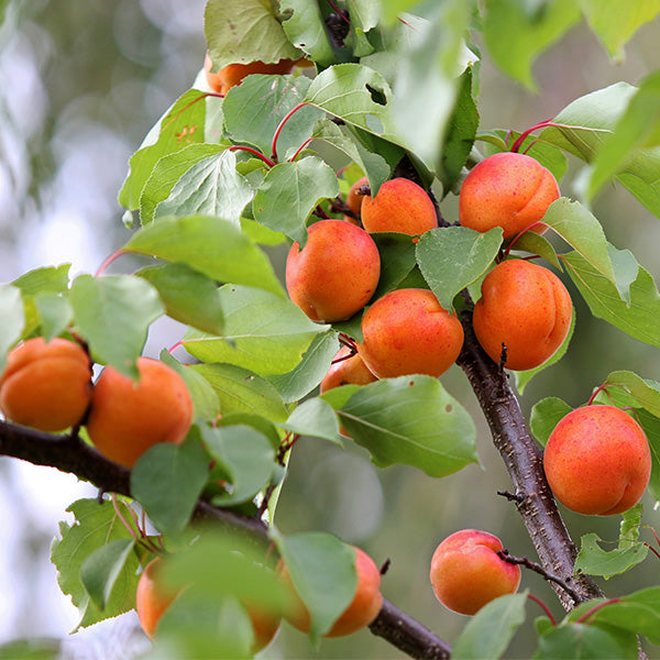
{"label": "bottom apricot mostly covered by a leaf, beside the lower branch", "polygon": [[[381,571],[374,560],[364,550],[354,547],[355,573],[358,584],[355,595],[349,606],[332,624],[330,630],[323,637],[344,637],[369,626],[381,612],[383,595],[381,594]],[[289,605],[285,609],[284,618],[302,632],[309,632],[311,619],[309,610],[298,596],[290,575],[284,562],[280,560],[277,571],[283,584],[289,592]]]}

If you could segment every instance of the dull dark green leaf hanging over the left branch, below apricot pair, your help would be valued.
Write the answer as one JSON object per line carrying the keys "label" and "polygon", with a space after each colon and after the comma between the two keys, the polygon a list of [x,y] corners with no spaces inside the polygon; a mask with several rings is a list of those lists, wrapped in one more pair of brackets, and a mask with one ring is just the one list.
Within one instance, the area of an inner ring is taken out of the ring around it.
{"label": "dull dark green leaf hanging over the left branch, below apricot pair", "polygon": [[161,532],[178,534],[190,519],[208,473],[209,460],[198,442],[158,442],[138,459],[131,494]]}

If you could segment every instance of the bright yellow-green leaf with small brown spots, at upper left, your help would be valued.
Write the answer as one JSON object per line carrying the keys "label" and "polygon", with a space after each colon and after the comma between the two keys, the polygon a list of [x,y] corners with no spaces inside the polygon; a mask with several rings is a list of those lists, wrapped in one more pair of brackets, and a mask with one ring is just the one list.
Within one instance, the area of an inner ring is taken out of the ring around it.
{"label": "bright yellow-green leaf with small brown spots, at upper left", "polygon": [[167,154],[204,142],[205,94],[189,89],[156,122],[130,161],[130,170],[119,191],[119,204],[130,211],[140,207],[140,197],[156,163]]}

